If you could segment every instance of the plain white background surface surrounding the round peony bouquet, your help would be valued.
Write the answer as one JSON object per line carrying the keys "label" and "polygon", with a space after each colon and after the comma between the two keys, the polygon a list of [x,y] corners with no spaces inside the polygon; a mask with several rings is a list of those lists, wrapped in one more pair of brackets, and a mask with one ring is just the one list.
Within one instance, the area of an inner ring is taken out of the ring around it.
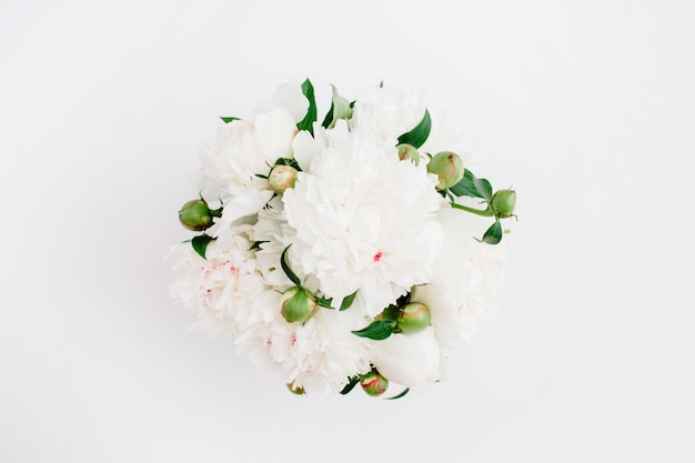
{"label": "plain white background surface surrounding the round peony bouquet", "polygon": [[[0,460],[695,461],[694,13],[2,1]],[[216,117],[306,77],[427,89],[518,192],[497,312],[400,401],[291,395],[167,292]]]}

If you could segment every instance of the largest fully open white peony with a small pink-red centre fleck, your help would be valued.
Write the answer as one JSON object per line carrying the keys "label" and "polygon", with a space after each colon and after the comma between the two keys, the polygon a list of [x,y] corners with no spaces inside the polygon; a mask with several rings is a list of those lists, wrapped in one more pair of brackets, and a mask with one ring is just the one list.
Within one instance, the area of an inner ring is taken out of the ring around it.
{"label": "largest fully open white peony with a small pink-red centre fleck", "polygon": [[282,199],[291,262],[329,296],[357,291],[357,304],[380,313],[430,281],[445,204],[435,183],[424,167],[399,161],[395,148],[350,138],[324,149]]}

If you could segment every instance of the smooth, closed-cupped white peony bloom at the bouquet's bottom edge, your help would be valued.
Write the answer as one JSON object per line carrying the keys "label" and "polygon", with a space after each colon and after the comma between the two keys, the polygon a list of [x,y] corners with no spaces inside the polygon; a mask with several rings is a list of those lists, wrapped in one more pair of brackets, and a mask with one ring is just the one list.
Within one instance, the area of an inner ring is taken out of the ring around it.
{"label": "smooth, closed-cupped white peony bloom at the bouquet's bottom edge", "polygon": [[373,341],[373,349],[374,366],[389,381],[417,386],[440,380],[440,345],[431,328]]}

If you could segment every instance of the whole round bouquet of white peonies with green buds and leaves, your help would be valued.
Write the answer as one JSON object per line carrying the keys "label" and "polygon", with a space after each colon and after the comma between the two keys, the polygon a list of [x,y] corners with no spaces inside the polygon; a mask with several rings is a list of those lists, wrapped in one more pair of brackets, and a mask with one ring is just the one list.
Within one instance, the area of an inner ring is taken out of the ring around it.
{"label": "whole round bouquet of white peonies with green buds and leaves", "polygon": [[193,329],[294,393],[440,381],[494,300],[516,193],[474,175],[465,139],[413,91],[333,88],[320,121],[306,80],[222,120],[179,212],[197,234],[170,290]]}

